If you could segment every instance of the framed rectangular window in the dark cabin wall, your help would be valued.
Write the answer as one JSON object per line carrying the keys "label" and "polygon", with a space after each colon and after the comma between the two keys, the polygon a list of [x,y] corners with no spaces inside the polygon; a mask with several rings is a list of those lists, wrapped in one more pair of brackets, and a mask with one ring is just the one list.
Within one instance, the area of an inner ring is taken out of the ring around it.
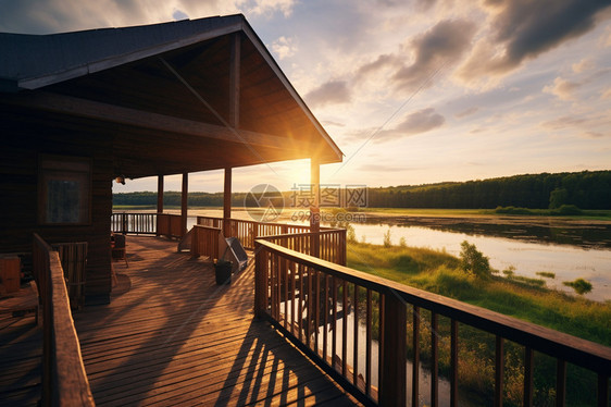
{"label": "framed rectangular window in the dark cabin wall", "polygon": [[41,157],[38,218],[42,224],[91,223],[91,161],[74,157]]}

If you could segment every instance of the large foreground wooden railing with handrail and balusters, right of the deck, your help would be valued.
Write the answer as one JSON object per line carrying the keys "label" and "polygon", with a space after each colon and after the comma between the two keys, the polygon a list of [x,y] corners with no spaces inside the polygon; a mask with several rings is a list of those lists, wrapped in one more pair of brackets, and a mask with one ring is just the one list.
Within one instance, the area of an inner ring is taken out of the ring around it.
{"label": "large foreground wooden railing with handrail and balusters, right of the deck", "polygon": [[[367,380],[361,382],[354,373],[349,372],[346,366],[347,355],[336,355],[333,349],[329,357],[328,350],[321,354],[317,346],[317,337],[320,335],[317,330],[308,330],[308,326],[314,323],[320,324],[319,318],[320,309],[328,309],[326,306],[328,300],[332,301],[329,312],[332,321],[337,328],[337,319],[340,318],[337,311],[338,306],[342,309],[344,314],[348,310],[350,304],[347,303],[346,294],[352,289],[354,299],[352,306],[358,307],[357,292],[365,289],[367,292],[367,336],[371,337],[371,294],[370,292],[378,293],[379,304],[379,384],[377,391],[377,403],[406,405],[404,388],[406,383],[406,369],[404,358],[398,358],[398,349],[404,349],[407,346],[404,330],[395,331],[394,328],[404,326],[407,323],[406,308],[412,309],[413,318],[420,318],[420,309],[425,309],[432,312],[432,323],[437,325],[437,316],[444,316],[451,321],[451,366],[450,366],[450,398],[453,402],[458,400],[458,341],[459,341],[459,323],[476,328],[478,330],[492,333],[497,336],[497,345],[501,340],[509,340],[521,344],[525,347],[526,356],[531,355],[528,359],[528,370],[525,371],[524,393],[526,404],[532,404],[532,351],[540,351],[556,358],[559,363],[559,371],[563,372],[561,367],[566,362],[583,367],[598,374],[599,386],[599,406],[607,406],[606,395],[609,394],[608,383],[611,375],[611,348],[596,344],[579,337],[575,337],[565,333],[561,333],[551,329],[536,325],[531,322],[518,320],[515,318],[504,316],[488,309],[461,303],[451,298],[447,298],[437,294],[428,293],[422,289],[409,287],[400,283],[389,281],[376,275],[364,273],[347,267],[332,263],[329,261],[309,256],[307,254],[297,252],[290,248],[266,242],[266,239],[259,238],[257,244],[257,261],[255,261],[255,314],[263,317],[287,335],[298,347],[303,349],[311,356],[317,363],[325,369],[329,374],[334,375],[338,382],[347,390],[351,391],[356,396],[365,403],[372,402],[371,393],[374,390],[372,383]],[[328,284],[331,279],[333,288],[329,293]],[[321,283],[323,282],[323,283]],[[344,298],[337,293],[337,286],[344,293]],[[290,288],[294,293],[285,293]],[[362,287],[362,288],[359,288]],[[284,294],[283,294],[284,293]],[[299,311],[295,309],[295,298],[298,298]],[[326,298],[321,300],[320,298]],[[306,304],[307,303],[307,304]],[[303,306],[303,311],[301,306]],[[307,307],[306,307],[307,305]],[[312,308],[313,307],[313,308]],[[401,307],[398,312],[398,308]],[[325,321],[327,312],[325,314]],[[346,338],[346,318],[344,318],[342,328],[342,349],[347,348]],[[302,328],[301,322],[306,321],[306,326]],[[319,322],[316,322],[319,321]],[[325,322],[326,323],[326,322]],[[354,326],[358,325],[354,323]],[[413,325],[412,337],[419,337],[419,323]],[[306,331],[306,337],[302,337],[302,331]],[[354,328],[354,331],[357,328]],[[335,345],[336,336],[334,330],[333,344]],[[401,333],[403,332],[403,333]],[[314,341],[310,336],[314,335]],[[357,332],[354,332],[357,336]],[[339,340],[339,338],[338,338]],[[397,342],[398,341],[398,342]],[[311,342],[314,342],[312,344]],[[367,345],[365,361],[366,377],[371,371],[372,353]],[[417,346],[414,347],[417,351]],[[434,351],[437,358],[437,345],[435,343]],[[502,350],[502,348],[501,348]],[[502,353],[499,351],[499,355]],[[500,356],[499,356],[500,357]],[[335,359],[338,358],[342,366],[336,366]],[[414,358],[417,360],[417,357]],[[389,365],[390,363],[390,365]],[[399,363],[399,366],[396,366]],[[437,366],[437,359],[433,360],[433,366]],[[497,362],[498,367],[502,368],[502,362]],[[414,373],[412,378],[417,378],[417,363],[413,365]],[[385,374],[386,373],[386,374]],[[392,373],[392,374],[390,374]],[[436,396],[438,380],[437,371],[433,372],[435,382],[432,383],[432,395]],[[399,374],[399,375],[397,375]],[[497,378],[502,377],[500,374]],[[502,383],[497,383],[497,386]],[[563,377],[559,377],[559,388],[565,388]],[[417,386],[412,390],[412,397],[417,398]],[[497,391],[497,402],[502,402],[502,392]],[[436,398],[436,397],[435,397]],[[560,400],[560,398],[559,398]]]}

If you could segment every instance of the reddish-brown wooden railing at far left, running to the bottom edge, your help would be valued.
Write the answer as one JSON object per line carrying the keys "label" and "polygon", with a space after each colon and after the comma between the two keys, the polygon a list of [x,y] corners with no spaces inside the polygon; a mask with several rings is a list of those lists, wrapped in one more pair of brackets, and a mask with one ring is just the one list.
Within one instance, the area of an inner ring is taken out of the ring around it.
{"label": "reddish-brown wooden railing at far left, running to the bottom edge", "polygon": [[57,251],[34,235],[34,275],[42,306],[43,406],[95,406]]}

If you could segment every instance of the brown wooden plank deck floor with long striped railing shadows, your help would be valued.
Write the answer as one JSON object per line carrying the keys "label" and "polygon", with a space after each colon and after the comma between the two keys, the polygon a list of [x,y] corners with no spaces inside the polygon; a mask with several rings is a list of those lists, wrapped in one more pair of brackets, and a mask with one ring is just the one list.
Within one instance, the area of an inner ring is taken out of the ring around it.
{"label": "brown wooden plank deck floor with long striped railing shadows", "polygon": [[111,304],[75,314],[97,405],[357,404],[253,319],[252,267],[217,286],[208,260],[175,248],[128,236]]}

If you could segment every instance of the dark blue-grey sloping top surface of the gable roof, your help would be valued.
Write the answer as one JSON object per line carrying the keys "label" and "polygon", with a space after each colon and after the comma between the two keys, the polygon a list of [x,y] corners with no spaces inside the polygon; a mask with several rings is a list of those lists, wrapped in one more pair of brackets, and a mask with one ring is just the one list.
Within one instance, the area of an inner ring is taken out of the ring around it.
{"label": "dark blue-grey sloping top surface of the gable roof", "polygon": [[0,78],[13,90],[37,89],[240,29],[252,32],[247,26],[236,14],[49,35],[0,33]]}

